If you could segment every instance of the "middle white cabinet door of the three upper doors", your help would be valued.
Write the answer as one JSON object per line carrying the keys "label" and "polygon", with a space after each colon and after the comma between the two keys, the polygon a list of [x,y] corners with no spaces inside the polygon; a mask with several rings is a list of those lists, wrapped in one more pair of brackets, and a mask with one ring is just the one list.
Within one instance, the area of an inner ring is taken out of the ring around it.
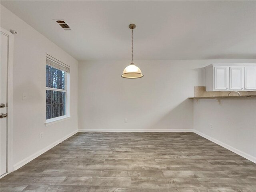
{"label": "middle white cabinet door of the three upper doors", "polygon": [[229,68],[229,90],[244,89],[244,67]]}

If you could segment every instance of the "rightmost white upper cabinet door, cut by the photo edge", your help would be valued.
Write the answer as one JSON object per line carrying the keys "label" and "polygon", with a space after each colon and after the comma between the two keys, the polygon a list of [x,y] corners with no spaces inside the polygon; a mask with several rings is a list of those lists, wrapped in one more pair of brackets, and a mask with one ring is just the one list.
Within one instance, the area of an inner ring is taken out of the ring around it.
{"label": "rightmost white upper cabinet door, cut by the photo edge", "polygon": [[256,90],[256,67],[244,67],[244,90]]}

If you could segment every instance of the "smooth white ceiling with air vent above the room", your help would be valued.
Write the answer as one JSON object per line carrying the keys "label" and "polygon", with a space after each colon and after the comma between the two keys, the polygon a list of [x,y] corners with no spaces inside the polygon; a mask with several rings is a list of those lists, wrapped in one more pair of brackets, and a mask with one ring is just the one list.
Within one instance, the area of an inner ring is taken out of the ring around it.
{"label": "smooth white ceiling with air vent above the room", "polygon": [[[256,1],[2,1],[78,60],[254,59]],[[64,19],[64,31],[53,19]]]}

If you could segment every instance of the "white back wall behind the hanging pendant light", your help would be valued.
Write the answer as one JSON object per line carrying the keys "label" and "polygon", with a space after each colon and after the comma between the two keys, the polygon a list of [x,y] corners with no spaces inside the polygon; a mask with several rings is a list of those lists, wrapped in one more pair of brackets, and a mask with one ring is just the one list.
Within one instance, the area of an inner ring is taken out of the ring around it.
{"label": "white back wall behind the hanging pendant light", "polygon": [[[193,130],[193,101],[188,97],[194,96],[194,86],[205,86],[202,67],[220,62],[255,60],[135,61],[144,74],[140,79],[120,77],[129,61],[79,62],[78,129]],[[247,113],[255,115],[252,110]]]}

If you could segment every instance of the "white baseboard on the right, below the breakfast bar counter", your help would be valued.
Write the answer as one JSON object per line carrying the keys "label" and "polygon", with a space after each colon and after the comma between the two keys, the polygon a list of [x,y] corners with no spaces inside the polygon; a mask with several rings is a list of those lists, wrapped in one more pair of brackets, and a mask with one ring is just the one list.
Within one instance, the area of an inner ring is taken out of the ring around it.
{"label": "white baseboard on the right, below the breakfast bar counter", "polygon": [[216,139],[214,139],[214,138],[212,138],[212,137],[210,137],[206,134],[203,134],[203,133],[201,133],[197,130],[194,130],[194,133],[196,133],[196,134],[198,134],[198,135],[200,135],[200,136],[202,136],[202,137],[204,137],[204,138],[206,138],[206,139],[208,139],[208,140],[210,140],[210,141],[212,141],[212,142],[214,142],[214,143],[216,143],[216,144],[218,144],[218,145],[220,145],[220,146],[222,146],[222,147],[224,147],[224,148],[226,148],[226,149],[228,149],[228,150],[230,150],[230,151],[232,151],[232,152],[234,152],[234,153],[236,153],[236,154],[238,154],[238,155],[240,155],[240,156],[242,156],[242,157],[244,157],[244,158],[246,158],[246,159],[248,159],[248,160],[250,160],[254,163],[256,163],[256,158],[247,154],[247,153],[245,153],[245,152],[242,152],[242,151],[240,151],[240,150],[238,150],[238,149],[236,149],[236,148],[234,148],[234,147],[232,147],[228,144],[225,144],[225,143],[223,143],[219,140],[216,140]]}

